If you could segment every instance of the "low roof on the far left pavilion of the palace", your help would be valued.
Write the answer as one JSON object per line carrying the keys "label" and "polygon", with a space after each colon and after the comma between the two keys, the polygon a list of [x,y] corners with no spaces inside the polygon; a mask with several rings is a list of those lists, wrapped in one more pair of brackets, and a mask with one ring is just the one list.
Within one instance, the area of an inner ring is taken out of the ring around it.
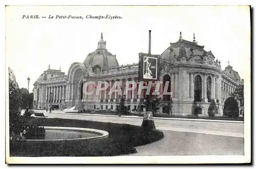
{"label": "low roof on the far left pavilion of the palace", "polygon": [[45,81],[48,81],[50,79],[59,78],[59,77],[62,77],[62,76],[65,76],[65,73],[60,71],[60,69],[59,70],[50,69],[50,65],[49,65],[49,68],[39,76],[37,81],[38,82],[45,82]]}

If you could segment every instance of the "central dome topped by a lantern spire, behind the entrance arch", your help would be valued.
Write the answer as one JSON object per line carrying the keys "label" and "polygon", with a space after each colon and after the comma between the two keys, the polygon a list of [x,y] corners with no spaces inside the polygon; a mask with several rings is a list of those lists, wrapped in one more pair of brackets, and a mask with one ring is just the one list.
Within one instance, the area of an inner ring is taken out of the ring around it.
{"label": "central dome topped by a lantern spire, behind the entrance arch", "polygon": [[93,53],[90,53],[86,60],[83,61],[83,64],[86,67],[91,65],[93,71],[96,67],[104,70],[119,66],[116,55],[112,55],[108,50],[106,50],[106,41],[103,41],[102,33],[101,39],[98,42],[98,49]]}

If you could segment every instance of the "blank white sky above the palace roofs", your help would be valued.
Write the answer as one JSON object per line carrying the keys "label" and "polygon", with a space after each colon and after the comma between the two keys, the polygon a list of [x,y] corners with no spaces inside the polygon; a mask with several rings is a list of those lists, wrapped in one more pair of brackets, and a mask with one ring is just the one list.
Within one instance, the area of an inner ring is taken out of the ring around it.
{"label": "blank white sky above the palace roofs", "polygon": [[[14,70],[19,87],[27,88],[48,69],[67,75],[73,62],[83,62],[97,49],[100,34],[119,65],[138,62],[138,54],[162,54],[170,42],[193,41],[229,64],[250,83],[250,13],[247,6],[8,6],[6,8],[6,68]],[[23,15],[46,16],[26,19]],[[49,19],[49,15],[54,19]],[[56,15],[83,19],[55,19]],[[120,16],[120,19],[87,19]]]}

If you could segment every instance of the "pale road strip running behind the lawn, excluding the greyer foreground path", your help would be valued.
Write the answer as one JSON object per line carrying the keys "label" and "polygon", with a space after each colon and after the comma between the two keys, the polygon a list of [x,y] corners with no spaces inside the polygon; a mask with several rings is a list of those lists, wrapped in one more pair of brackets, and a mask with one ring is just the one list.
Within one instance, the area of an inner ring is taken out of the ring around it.
{"label": "pale road strip running behind the lawn, excluding the greyer foreground path", "polygon": [[[95,116],[95,115],[81,115],[81,114],[64,114],[64,113],[46,113],[50,118],[71,118],[92,120],[98,122],[111,122],[120,124],[131,124],[140,126],[141,118],[130,117],[112,117],[112,116]],[[225,122],[201,122],[188,120],[172,120],[172,119],[154,119],[156,129],[192,132],[221,136],[244,137],[243,123],[225,123]]]}

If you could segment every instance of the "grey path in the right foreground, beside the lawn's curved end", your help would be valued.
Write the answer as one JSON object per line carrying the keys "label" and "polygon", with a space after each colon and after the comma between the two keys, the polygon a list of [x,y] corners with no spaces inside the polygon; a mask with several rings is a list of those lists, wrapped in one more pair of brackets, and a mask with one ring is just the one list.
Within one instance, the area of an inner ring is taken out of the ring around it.
{"label": "grey path in the right foreground, beside the lawn's curved end", "polygon": [[162,130],[164,138],[123,156],[244,155],[244,138]]}

